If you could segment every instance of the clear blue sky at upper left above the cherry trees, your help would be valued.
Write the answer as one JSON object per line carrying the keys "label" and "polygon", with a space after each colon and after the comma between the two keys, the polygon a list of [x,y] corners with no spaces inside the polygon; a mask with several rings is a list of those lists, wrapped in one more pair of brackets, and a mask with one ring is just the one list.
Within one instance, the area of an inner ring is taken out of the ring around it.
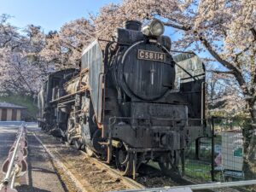
{"label": "clear blue sky at upper left above the cherry trees", "polygon": [[97,14],[108,3],[121,0],[0,0],[0,15],[12,16],[9,22],[21,29],[29,24],[42,26],[44,32],[58,30],[70,21]]}

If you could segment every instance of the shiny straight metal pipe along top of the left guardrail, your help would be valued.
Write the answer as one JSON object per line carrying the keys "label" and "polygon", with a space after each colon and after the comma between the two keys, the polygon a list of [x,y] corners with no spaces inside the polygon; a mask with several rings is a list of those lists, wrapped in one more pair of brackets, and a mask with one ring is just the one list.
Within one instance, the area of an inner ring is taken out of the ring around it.
{"label": "shiny straight metal pipe along top of the left guardrail", "polygon": [[20,138],[22,137],[23,132],[24,132],[24,123],[22,123],[20,125],[20,134],[19,134],[18,139],[16,140],[16,143],[15,143],[15,149],[14,149],[14,152],[12,154],[12,158],[11,158],[11,160],[9,162],[8,171],[6,172],[6,175],[5,175],[4,179],[3,179],[3,184],[4,185],[8,185],[9,184],[10,176],[12,175],[12,171],[15,168],[14,167],[15,158],[16,158],[16,155],[17,155],[18,147],[20,145]]}

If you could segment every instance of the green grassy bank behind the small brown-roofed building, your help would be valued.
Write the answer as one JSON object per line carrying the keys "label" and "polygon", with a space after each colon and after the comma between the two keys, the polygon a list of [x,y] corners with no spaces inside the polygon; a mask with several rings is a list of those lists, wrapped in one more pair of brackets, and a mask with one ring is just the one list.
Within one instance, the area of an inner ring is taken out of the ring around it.
{"label": "green grassy bank behind the small brown-roofed building", "polygon": [[0,96],[0,102],[10,102],[15,105],[20,105],[27,108],[26,117],[28,119],[36,119],[38,108],[36,103],[33,102],[32,96],[9,95]]}

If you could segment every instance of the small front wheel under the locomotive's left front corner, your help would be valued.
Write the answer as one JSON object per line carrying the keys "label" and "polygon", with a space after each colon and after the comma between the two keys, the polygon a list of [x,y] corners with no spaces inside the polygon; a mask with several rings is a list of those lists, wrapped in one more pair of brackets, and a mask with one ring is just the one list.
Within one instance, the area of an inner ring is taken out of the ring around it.
{"label": "small front wheel under the locomotive's left front corner", "polygon": [[127,151],[126,145],[116,149],[115,163],[122,175],[131,176],[132,174],[132,157],[133,155]]}

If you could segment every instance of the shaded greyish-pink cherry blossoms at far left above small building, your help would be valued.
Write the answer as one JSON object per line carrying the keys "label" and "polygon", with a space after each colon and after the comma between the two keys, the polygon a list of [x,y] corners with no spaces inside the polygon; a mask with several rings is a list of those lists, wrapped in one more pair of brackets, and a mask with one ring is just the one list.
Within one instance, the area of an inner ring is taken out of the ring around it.
{"label": "shaded greyish-pink cherry blossoms at far left above small building", "polygon": [[44,33],[38,26],[27,26],[24,35],[2,16],[0,25],[0,91],[2,93],[37,94],[46,75],[53,71],[40,51]]}

